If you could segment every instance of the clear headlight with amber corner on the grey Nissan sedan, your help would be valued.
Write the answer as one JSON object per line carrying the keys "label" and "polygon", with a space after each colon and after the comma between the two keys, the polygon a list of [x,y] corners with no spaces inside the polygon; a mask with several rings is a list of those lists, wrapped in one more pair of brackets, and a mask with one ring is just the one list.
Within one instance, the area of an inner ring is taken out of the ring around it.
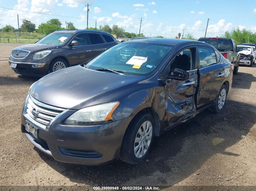
{"label": "clear headlight with amber corner on the grey Nissan sedan", "polygon": [[119,102],[103,103],[91,107],[85,107],[72,114],[65,120],[68,125],[90,125],[109,122]]}

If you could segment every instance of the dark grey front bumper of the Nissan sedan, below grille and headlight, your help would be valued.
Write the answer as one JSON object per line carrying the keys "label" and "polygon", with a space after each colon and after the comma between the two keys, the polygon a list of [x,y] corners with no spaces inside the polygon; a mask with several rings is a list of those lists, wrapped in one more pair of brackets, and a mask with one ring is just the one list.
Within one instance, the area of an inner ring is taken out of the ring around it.
{"label": "dark grey front bumper of the Nissan sedan, below grille and headlight", "polygon": [[55,160],[84,165],[105,164],[118,158],[123,136],[133,118],[102,125],[72,126],[61,124],[66,117],[54,121],[49,130],[39,128],[35,138],[25,130],[28,119],[22,114],[21,131],[36,148]]}

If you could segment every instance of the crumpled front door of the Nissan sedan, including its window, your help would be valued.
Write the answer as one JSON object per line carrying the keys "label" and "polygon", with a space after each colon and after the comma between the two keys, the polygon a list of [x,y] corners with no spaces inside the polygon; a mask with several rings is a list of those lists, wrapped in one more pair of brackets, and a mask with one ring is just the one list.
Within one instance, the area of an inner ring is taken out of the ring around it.
{"label": "crumpled front door of the Nissan sedan, including its window", "polygon": [[182,50],[172,59],[165,84],[167,128],[178,121],[185,121],[195,111],[195,92],[198,84],[195,66],[195,47]]}

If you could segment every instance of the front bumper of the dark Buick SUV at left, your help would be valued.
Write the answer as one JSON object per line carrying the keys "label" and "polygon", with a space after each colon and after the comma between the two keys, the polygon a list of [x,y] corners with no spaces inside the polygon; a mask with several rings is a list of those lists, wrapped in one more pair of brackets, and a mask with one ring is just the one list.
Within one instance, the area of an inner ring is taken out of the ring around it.
{"label": "front bumper of the dark Buick SUV at left", "polygon": [[[49,73],[50,64],[48,62],[42,62],[42,61],[40,63],[20,62],[10,57],[10,59],[8,59],[8,63],[9,65],[11,65],[11,63],[17,64],[16,68],[12,68],[12,70],[15,73],[20,75],[42,77]],[[32,65],[44,65],[44,66],[40,68],[32,68]]]}

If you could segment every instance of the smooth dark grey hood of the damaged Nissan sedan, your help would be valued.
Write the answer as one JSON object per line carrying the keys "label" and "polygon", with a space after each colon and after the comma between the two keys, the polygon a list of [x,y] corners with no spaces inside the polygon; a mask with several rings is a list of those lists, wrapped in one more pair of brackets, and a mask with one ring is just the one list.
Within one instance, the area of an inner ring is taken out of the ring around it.
{"label": "smooth dark grey hood of the damaged Nissan sedan", "polygon": [[99,72],[80,65],[46,75],[32,85],[35,99],[56,107],[78,110],[110,102],[141,86],[146,76]]}

